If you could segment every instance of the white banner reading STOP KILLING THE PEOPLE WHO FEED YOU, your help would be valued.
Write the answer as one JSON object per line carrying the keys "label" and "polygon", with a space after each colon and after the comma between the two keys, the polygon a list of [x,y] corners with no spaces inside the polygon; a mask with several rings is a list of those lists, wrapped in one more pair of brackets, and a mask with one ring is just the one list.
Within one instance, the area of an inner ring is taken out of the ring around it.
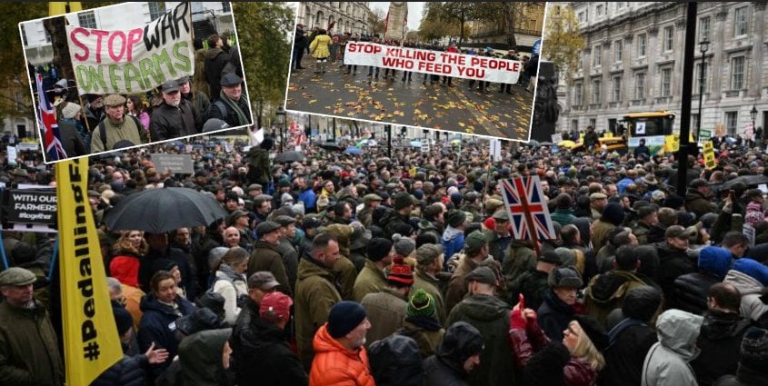
{"label": "white banner reading STOP KILLING THE PEOPLE WHO FEED YOU", "polygon": [[438,74],[494,83],[517,83],[523,63],[491,56],[350,42],[344,64],[374,65],[416,73]]}

